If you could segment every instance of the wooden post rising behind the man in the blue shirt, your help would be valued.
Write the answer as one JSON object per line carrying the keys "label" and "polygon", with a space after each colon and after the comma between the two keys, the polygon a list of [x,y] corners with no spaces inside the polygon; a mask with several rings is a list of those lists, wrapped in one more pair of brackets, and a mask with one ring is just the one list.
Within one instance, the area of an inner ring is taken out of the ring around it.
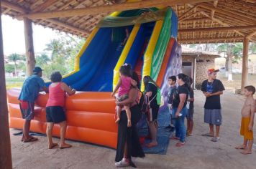
{"label": "wooden post rising behind the man in the blue shirt", "polygon": [[32,21],[27,18],[24,18],[24,36],[26,46],[27,76],[29,76],[32,74],[35,67],[35,52],[33,44]]}

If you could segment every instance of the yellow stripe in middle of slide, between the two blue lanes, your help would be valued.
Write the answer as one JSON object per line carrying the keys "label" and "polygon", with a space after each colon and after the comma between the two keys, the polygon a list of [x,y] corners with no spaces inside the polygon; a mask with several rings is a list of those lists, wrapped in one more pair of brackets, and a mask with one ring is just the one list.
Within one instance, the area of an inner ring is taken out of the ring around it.
{"label": "yellow stripe in middle of slide, between the two blue lanes", "polygon": [[127,55],[129,54],[129,50],[132,47],[132,44],[134,42],[134,39],[137,36],[137,33],[139,32],[140,24],[134,25],[131,34],[129,35],[129,39],[127,40],[127,43],[124,46],[124,49],[122,51],[122,54],[120,55],[116,67],[114,67],[114,74],[113,74],[113,90],[116,87],[116,84],[119,80],[119,69],[124,64],[125,59],[127,59]]}

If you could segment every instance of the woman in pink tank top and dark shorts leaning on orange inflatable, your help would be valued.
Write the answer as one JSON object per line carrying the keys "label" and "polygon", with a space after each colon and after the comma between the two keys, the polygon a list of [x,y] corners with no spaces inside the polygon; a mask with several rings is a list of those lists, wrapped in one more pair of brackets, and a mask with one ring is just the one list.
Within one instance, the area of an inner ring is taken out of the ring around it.
{"label": "woman in pink tank top and dark shorts leaning on orange inflatable", "polygon": [[62,76],[60,72],[53,72],[50,75],[50,80],[52,84],[49,86],[49,98],[46,104],[48,148],[52,149],[58,145],[58,143],[52,142],[52,128],[55,123],[60,125],[60,148],[70,148],[71,145],[65,143],[65,131],[67,128],[64,110],[65,96],[66,94],[74,95],[76,90],[71,90],[67,84],[61,82]]}

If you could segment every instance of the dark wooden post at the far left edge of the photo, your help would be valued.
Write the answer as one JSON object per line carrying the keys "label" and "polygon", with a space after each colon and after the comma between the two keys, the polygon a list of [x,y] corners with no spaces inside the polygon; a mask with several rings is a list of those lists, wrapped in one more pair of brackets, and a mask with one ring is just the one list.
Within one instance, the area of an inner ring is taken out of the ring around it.
{"label": "dark wooden post at the far left edge of the photo", "polygon": [[0,168],[12,168],[11,141],[9,133],[9,120],[6,98],[6,85],[4,73],[4,47],[1,29],[1,1],[0,1]]}

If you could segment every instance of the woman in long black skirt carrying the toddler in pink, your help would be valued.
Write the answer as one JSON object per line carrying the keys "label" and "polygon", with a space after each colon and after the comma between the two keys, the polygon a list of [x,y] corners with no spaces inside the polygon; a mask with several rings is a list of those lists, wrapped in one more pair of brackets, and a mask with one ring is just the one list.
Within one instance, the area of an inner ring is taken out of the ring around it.
{"label": "woman in long black skirt carrying the toddler in pink", "polygon": [[139,135],[136,127],[137,122],[139,122],[142,116],[140,107],[138,106],[138,100],[140,97],[140,80],[135,72],[132,74],[132,79],[137,82],[137,85],[131,85],[128,98],[126,100],[116,102],[117,106],[129,105],[132,123],[131,127],[127,126],[127,113],[123,109],[120,113],[118,123],[117,148],[115,158],[116,167],[125,167],[129,165],[136,167],[134,163],[132,163],[132,157],[145,157],[145,154],[140,145]]}

